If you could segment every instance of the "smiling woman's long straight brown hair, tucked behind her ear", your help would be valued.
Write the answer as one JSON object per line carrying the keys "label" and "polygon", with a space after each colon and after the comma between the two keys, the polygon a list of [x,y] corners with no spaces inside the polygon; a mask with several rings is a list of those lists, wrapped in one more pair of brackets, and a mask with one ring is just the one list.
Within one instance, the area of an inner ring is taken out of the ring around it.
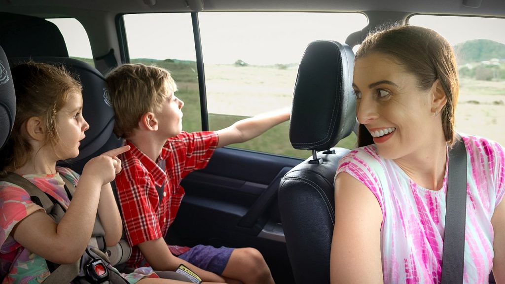
{"label": "smiling woman's long straight brown hair, tucked behind her ear", "polygon": [[[414,74],[418,87],[426,90],[439,79],[447,103],[440,110],[445,140],[453,144],[459,80],[456,58],[450,44],[434,30],[401,25],[369,34],[356,53],[356,60],[371,53],[392,57]],[[364,125],[358,131],[358,147],[373,144],[372,135]]]}

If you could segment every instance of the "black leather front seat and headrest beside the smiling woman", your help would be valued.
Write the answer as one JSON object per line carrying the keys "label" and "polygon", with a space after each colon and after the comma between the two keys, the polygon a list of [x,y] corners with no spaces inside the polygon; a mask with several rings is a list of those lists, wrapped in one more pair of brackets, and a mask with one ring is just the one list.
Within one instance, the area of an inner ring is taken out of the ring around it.
{"label": "black leather front seat and headrest beside the smiling woman", "polygon": [[308,45],[298,69],[289,139],[293,148],[311,150],[313,157],[284,175],[278,194],[296,283],[330,282],[333,179],[339,159],[349,152],[332,147],[356,122],[353,68],[348,45],[319,40]]}

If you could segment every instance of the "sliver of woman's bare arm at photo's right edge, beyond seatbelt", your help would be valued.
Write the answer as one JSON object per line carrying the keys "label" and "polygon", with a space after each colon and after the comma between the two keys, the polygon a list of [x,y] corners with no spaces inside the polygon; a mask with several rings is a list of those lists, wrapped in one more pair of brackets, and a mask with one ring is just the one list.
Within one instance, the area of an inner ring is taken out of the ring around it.
{"label": "sliver of woman's bare arm at photo's right edge, beyond seatbelt", "polygon": [[501,201],[491,218],[494,230],[493,275],[496,283],[505,283],[505,202]]}

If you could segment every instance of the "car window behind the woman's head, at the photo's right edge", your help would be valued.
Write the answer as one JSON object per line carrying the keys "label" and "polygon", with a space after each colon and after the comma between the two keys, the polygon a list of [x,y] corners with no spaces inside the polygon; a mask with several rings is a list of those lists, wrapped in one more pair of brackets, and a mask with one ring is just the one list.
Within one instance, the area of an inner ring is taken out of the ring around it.
{"label": "car window behind the woman's head, at the photo's right edge", "polygon": [[456,130],[505,145],[505,19],[416,15],[453,46],[460,75]]}

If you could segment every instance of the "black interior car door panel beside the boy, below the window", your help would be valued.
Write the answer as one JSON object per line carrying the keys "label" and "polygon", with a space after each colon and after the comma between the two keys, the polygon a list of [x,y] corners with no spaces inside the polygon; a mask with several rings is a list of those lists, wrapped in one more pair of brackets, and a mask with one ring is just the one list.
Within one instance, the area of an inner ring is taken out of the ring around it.
{"label": "black interior car door panel beside the boy, below the window", "polygon": [[254,247],[262,252],[276,283],[292,282],[276,197],[280,178],[300,162],[247,150],[217,149],[205,169],[184,178],[186,195],[167,242]]}

